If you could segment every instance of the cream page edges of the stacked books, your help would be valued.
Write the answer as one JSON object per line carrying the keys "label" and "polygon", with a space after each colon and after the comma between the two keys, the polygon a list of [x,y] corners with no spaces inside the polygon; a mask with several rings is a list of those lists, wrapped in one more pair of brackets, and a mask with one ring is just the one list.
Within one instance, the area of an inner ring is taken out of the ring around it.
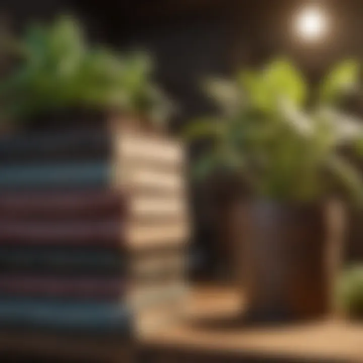
{"label": "cream page edges of the stacked books", "polygon": [[183,310],[191,262],[185,157],[175,141],[130,134],[120,134],[114,154],[120,161],[116,184],[128,196],[128,296],[139,336]]}

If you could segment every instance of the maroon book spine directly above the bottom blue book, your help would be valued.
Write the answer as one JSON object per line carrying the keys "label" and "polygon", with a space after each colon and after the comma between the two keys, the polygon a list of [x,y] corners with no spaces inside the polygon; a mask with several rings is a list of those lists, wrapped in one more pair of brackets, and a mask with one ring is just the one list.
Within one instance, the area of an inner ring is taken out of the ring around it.
{"label": "maroon book spine directly above the bottom blue book", "polygon": [[120,277],[75,277],[0,273],[0,296],[120,300],[126,281]]}

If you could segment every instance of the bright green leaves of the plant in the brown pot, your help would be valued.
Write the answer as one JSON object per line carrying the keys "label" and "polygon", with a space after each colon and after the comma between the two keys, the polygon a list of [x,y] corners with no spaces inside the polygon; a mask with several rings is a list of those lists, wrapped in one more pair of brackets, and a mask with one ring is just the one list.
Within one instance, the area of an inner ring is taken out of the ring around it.
{"label": "bright green leaves of the plant in the brown pot", "polygon": [[363,180],[342,150],[359,154],[363,127],[338,110],[358,72],[355,61],[336,66],[313,105],[308,83],[285,59],[260,71],[241,71],[232,81],[207,82],[220,114],[185,130],[188,140],[211,142],[194,165],[195,175],[229,169],[255,195],[270,199],[314,201],[338,191],[360,201]]}

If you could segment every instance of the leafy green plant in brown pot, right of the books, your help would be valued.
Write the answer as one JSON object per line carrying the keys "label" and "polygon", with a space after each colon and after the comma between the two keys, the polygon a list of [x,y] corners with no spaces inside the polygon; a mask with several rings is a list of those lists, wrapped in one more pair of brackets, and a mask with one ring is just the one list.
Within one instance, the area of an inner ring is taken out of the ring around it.
{"label": "leafy green plant in brown pot, right of the books", "polygon": [[341,232],[340,209],[330,202],[360,202],[363,192],[345,155],[346,149],[359,153],[363,129],[338,108],[358,70],[354,61],[339,64],[311,99],[300,72],[276,59],[233,81],[209,82],[221,113],[187,127],[189,140],[211,142],[195,163],[197,175],[232,170],[248,187],[249,198],[235,203],[236,256],[253,321],[329,310]]}

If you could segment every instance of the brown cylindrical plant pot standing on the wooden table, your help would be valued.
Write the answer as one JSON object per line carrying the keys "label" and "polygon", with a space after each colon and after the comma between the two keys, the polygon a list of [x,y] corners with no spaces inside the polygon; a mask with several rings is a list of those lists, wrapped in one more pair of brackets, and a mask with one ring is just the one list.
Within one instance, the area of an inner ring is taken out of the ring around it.
{"label": "brown cylindrical plant pot standing on the wooden table", "polygon": [[247,317],[280,322],[330,312],[341,255],[341,209],[255,201],[242,205],[239,217]]}

